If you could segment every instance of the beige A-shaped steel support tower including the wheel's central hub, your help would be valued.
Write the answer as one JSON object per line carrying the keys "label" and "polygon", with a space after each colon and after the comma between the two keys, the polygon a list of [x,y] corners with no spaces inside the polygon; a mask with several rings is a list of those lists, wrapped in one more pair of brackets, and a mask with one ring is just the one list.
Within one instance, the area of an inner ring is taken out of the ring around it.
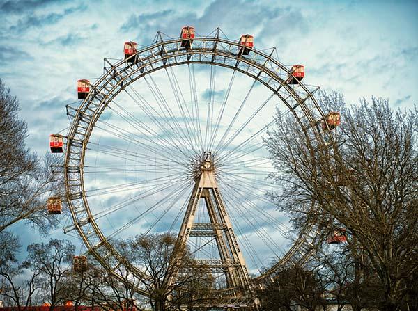
{"label": "beige A-shaped steel support tower including the wheel's central hub", "polygon": [[[201,199],[205,202],[210,223],[194,222]],[[214,292],[219,299],[215,298],[213,305],[234,307],[235,310],[238,307],[241,310],[258,310],[258,298],[215,179],[215,167],[210,152],[205,154],[196,175],[192,196],[178,234],[177,250],[185,249],[189,237],[213,237],[216,241],[219,260],[194,260],[194,264],[206,266],[212,273],[224,273],[227,290]],[[196,269],[196,266],[190,268]]]}

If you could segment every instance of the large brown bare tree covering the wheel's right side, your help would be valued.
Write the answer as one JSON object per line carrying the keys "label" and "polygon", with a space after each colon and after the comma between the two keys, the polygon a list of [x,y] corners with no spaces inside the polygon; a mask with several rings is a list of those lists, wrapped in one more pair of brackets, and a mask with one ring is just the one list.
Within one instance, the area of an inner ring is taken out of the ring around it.
{"label": "large brown bare tree covering the wheel's right side", "polygon": [[392,111],[376,98],[346,107],[338,94],[321,101],[341,108],[336,141],[326,146],[278,113],[265,143],[284,190],[270,197],[297,228],[315,223],[324,237],[346,230],[351,254],[362,250],[375,276],[376,307],[398,310],[418,269],[417,109]]}

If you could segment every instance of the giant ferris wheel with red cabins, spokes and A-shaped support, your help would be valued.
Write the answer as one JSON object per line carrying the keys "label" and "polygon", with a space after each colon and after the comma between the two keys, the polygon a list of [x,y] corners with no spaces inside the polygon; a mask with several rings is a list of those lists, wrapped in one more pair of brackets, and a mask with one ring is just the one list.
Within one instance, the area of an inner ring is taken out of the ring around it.
{"label": "giant ferris wheel with red cabins, spokes and A-shaped support", "polygon": [[[152,45],[125,42],[123,59],[104,58],[102,76],[79,80],[79,105],[67,106],[73,223],[65,232],[78,232],[116,277],[124,266],[132,278],[148,276],[114,241],[174,233],[224,281],[215,305],[256,309],[258,280],[306,260],[315,240],[312,228],[293,235],[268,200],[277,185],[263,138],[277,109],[314,145],[332,139],[334,122],[316,102],[318,87],[301,82],[304,67],[284,65],[275,53],[256,49],[251,35],[229,40],[220,29],[198,35],[186,26],[180,38],[158,32]],[[63,151],[62,136],[51,141],[53,152]]]}

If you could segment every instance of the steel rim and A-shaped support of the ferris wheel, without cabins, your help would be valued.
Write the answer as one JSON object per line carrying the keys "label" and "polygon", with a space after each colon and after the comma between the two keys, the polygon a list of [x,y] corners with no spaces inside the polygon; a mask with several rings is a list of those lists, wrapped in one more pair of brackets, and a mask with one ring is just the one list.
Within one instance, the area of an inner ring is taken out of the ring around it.
{"label": "steel rim and A-shaped support of the ferris wheel, without cabins", "polygon": [[[64,230],[65,232],[77,230],[88,253],[106,269],[114,271],[116,277],[118,277],[117,267],[124,266],[131,271],[133,284],[134,278],[149,278],[149,276],[123,260],[107,240],[91,212],[84,185],[84,160],[89,138],[100,115],[122,90],[135,81],[144,79],[148,74],[172,66],[196,63],[226,67],[251,77],[271,90],[277,99],[286,104],[301,130],[311,139],[312,145],[318,148],[326,147],[333,139],[329,131],[321,131],[318,127],[318,123],[325,116],[314,97],[318,87],[306,86],[303,83],[292,86],[286,83],[291,72],[288,67],[273,58],[275,49],[272,49],[270,54],[251,49],[248,56],[243,56],[242,46],[238,42],[220,38],[219,29],[211,37],[194,38],[192,46],[187,49],[181,47],[182,42],[183,39],[165,39],[157,33],[157,40],[153,45],[144,47],[130,58],[114,63],[104,58],[104,73],[91,86],[88,97],[78,107],[67,106],[71,126],[67,135],[64,167],[66,199],[73,224]],[[270,124],[273,122],[274,120]],[[213,174],[212,164],[210,168],[200,170],[178,241],[184,245],[189,237],[214,237],[219,248],[220,260],[202,262],[202,264],[209,264],[215,271],[225,273],[229,288],[239,288],[237,290],[240,294],[237,294],[237,291],[234,294],[225,292],[222,298],[219,297],[218,301],[210,303],[208,307],[235,305],[241,308],[246,306],[256,308],[254,282],[270,277],[285,264],[306,260],[316,243],[315,232],[312,232],[311,228],[306,228],[288,253],[253,282],[249,277]],[[194,209],[200,198],[206,202],[210,223],[194,222]],[[147,294],[141,288],[138,288],[138,291]]]}

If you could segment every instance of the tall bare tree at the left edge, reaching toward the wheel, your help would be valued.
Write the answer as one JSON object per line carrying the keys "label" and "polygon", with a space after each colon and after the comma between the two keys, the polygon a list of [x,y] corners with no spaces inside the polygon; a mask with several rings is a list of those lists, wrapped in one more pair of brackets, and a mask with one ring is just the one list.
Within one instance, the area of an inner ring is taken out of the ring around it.
{"label": "tall bare tree at the left edge, reaching toward the wheel", "polygon": [[27,221],[46,233],[58,224],[45,202],[49,193],[61,194],[51,168],[61,160],[49,154],[40,161],[26,148],[27,128],[19,110],[17,98],[0,79],[0,232]]}

